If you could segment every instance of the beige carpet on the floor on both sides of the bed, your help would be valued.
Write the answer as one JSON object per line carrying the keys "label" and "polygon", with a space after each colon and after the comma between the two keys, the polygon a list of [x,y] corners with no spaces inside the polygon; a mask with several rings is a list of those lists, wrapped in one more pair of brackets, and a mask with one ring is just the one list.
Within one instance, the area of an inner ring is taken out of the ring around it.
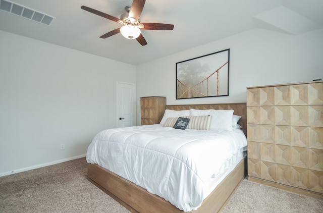
{"label": "beige carpet on the floor on both sides of the bed", "polygon": [[[128,213],[87,180],[85,158],[0,178],[0,212]],[[223,213],[323,212],[323,200],[244,180]]]}

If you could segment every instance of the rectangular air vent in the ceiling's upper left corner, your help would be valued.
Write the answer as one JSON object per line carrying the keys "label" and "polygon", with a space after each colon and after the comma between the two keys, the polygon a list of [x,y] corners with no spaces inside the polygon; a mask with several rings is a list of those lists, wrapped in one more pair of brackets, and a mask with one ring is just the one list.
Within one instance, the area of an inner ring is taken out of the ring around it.
{"label": "rectangular air vent in the ceiling's upper left corner", "polygon": [[24,17],[42,24],[50,25],[55,17],[26,8],[13,2],[0,0],[0,10]]}

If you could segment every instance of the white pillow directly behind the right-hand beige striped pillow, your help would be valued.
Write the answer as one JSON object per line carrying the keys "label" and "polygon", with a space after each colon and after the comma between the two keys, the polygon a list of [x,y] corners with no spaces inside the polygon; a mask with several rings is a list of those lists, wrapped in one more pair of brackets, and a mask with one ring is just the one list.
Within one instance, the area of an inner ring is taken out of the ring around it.
{"label": "white pillow directly behind the right-hand beige striped pillow", "polygon": [[191,109],[191,116],[212,116],[210,130],[232,131],[233,110],[194,110]]}

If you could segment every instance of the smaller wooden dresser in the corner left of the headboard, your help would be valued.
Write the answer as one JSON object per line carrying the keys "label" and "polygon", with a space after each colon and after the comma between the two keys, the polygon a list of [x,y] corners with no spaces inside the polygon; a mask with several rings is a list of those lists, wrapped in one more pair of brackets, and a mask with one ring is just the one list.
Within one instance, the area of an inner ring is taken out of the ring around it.
{"label": "smaller wooden dresser in the corner left of the headboard", "polygon": [[166,97],[140,98],[141,125],[159,124],[166,110]]}

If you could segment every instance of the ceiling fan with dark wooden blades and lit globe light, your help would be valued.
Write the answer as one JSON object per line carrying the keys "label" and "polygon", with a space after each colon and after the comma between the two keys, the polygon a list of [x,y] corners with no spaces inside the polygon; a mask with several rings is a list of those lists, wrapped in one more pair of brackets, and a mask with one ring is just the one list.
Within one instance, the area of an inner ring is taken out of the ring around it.
{"label": "ceiling fan with dark wooden blades and lit globe light", "polygon": [[100,11],[94,10],[92,8],[82,6],[81,9],[93,13],[95,15],[101,16],[106,19],[118,22],[122,26],[115,30],[112,30],[104,35],[101,35],[100,38],[107,38],[115,34],[121,33],[125,38],[136,39],[142,46],[147,44],[147,41],[142,36],[140,30],[173,30],[173,24],[160,24],[160,23],[140,23],[139,16],[142,12],[142,9],[145,5],[146,0],[134,0],[131,6],[127,6],[126,13],[122,14],[120,19],[102,13]]}

